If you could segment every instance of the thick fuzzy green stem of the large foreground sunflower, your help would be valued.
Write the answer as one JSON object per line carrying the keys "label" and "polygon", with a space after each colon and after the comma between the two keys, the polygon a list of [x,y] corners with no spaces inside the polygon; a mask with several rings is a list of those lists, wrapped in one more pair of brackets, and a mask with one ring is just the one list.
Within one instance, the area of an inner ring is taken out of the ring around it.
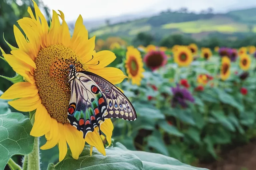
{"label": "thick fuzzy green stem of the large foreground sunflower", "polygon": [[34,149],[28,154],[28,169],[40,170],[39,137],[35,137]]}

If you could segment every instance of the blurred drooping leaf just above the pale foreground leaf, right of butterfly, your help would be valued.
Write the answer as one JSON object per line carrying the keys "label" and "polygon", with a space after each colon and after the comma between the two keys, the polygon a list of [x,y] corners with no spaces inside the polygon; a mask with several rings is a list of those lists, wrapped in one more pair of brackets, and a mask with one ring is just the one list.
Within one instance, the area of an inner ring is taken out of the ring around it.
{"label": "blurred drooping leaf just above the pale foreground leaf, right of butterfly", "polygon": [[152,135],[148,136],[148,146],[156,149],[160,153],[164,155],[169,155],[167,148],[164,144],[164,140],[161,136],[161,134],[157,131],[154,131]]}

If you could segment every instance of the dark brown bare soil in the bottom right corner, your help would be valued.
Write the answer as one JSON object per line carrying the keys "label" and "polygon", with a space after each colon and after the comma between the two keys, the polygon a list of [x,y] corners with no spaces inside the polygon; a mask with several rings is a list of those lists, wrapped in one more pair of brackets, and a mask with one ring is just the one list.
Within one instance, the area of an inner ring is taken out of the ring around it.
{"label": "dark brown bare soil in the bottom right corner", "polygon": [[210,170],[256,170],[256,141],[237,146],[223,153],[217,161],[197,167]]}

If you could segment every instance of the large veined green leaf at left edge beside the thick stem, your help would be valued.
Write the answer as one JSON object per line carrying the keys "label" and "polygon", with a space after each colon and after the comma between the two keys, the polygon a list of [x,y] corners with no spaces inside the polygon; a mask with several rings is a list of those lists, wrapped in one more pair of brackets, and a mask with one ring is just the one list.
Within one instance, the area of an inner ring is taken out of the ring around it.
{"label": "large veined green leaf at left edge beside the thick stem", "polygon": [[13,155],[24,155],[33,150],[31,129],[30,120],[21,113],[0,115],[0,169],[4,169]]}

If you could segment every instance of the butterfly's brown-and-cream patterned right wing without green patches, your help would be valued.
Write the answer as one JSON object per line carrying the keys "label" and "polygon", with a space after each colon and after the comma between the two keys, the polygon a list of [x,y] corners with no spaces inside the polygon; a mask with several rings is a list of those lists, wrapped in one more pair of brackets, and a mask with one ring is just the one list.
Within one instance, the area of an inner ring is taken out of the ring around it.
{"label": "butterfly's brown-and-cream patterned right wing without green patches", "polygon": [[127,97],[112,83],[97,74],[81,71],[90,77],[101,89],[107,99],[107,112],[104,118],[121,118],[129,121],[137,119],[135,109]]}

